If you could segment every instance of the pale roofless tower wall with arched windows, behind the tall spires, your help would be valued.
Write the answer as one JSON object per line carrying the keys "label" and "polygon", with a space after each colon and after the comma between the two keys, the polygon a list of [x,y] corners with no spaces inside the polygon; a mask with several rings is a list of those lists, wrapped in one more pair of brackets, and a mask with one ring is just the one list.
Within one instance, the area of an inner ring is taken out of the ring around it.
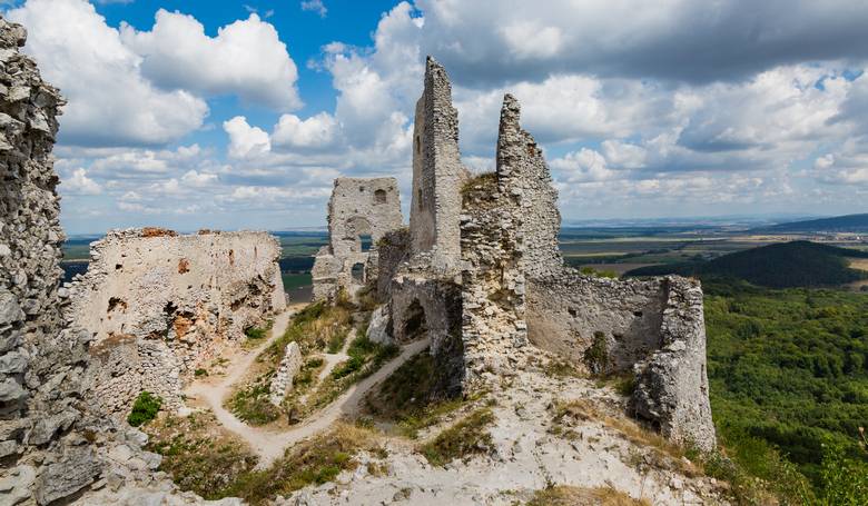
{"label": "pale roofless tower wall with arched windows, behind the tall spires", "polygon": [[[320,248],[312,271],[314,300],[332,300],[374,279],[377,242],[402,226],[395,178],[337,178],[328,201],[328,246]],[[364,250],[362,237],[369,236]],[[354,275],[355,268],[355,275]]]}

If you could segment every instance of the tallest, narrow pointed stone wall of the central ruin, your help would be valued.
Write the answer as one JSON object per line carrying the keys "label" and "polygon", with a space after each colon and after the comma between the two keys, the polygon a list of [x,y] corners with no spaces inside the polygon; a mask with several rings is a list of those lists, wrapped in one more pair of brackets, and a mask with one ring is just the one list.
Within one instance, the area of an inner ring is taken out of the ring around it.
{"label": "tallest, narrow pointed stone wall of the central ruin", "polygon": [[416,102],[413,131],[413,252],[430,251],[440,269],[461,257],[461,188],[470,177],[458,151],[458,112],[446,70],[428,57],[425,89]]}

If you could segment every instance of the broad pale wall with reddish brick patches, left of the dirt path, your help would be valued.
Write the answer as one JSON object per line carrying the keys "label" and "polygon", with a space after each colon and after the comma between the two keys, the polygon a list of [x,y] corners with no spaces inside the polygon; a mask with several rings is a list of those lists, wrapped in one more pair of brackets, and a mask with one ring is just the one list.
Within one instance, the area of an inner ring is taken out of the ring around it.
{"label": "broad pale wall with reddish brick patches, left of the dirt path", "polygon": [[112,230],[70,286],[69,318],[92,337],[91,396],[125,415],[148,390],[180,406],[184,379],[286,306],[279,242],[266,232]]}

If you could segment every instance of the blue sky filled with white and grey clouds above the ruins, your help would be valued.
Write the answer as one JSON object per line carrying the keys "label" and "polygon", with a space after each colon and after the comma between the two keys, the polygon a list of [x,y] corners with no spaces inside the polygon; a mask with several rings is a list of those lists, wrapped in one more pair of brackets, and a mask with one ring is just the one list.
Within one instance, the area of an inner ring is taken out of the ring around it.
{"label": "blue sky filled with white and grey clouds above the ruins", "polygon": [[425,54],[475,171],[519,98],[568,220],[868,211],[864,0],[4,4],[69,101],[72,234],[323,226],[338,175],[408,195]]}

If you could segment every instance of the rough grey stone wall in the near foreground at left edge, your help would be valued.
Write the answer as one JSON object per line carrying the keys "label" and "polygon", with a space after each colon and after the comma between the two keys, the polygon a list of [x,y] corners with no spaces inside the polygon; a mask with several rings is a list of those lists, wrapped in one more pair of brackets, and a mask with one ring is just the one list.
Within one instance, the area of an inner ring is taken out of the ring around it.
{"label": "rough grey stone wall in the near foreground at left edge", "polygon": [[0,458],[2,503],[48,504],[101,466],[81,437],[87,336],[63,329],[57,173],[63,100],[0,19]]}

